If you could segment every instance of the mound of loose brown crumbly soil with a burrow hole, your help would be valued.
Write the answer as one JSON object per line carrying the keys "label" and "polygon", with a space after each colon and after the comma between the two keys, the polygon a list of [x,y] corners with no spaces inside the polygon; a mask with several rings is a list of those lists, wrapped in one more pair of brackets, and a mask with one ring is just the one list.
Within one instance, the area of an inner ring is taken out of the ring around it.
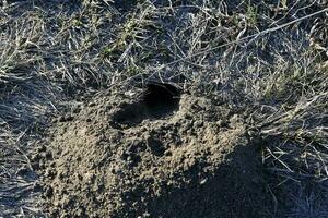
{"label": "mound of loose brown crumbly soil with a burrow hole", "polygon": [[163,92],[98,95],[54,123],[42,170],[51,217],[265,217],[243,116]]}

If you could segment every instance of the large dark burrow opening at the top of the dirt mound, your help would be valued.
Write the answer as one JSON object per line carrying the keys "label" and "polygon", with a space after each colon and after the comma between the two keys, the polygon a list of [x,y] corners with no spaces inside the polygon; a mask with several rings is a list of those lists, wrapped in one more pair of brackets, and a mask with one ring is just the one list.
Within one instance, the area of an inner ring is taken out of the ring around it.
{"label": "large dark burrow opening at the top of the dirt mound", "polygon": [[140,100],[125,105],[114,114],[115,128],[133,126],[145,119],[161,119],[178,109],[180,90],[162,83],[149,83]]}

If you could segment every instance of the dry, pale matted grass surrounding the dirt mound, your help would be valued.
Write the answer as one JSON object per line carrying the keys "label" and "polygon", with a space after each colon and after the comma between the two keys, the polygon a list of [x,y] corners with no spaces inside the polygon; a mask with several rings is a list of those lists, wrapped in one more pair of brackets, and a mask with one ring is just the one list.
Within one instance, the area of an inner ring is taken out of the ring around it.
{"label": "dry, pale matted grass surrounding the dirt mound", "polygon": [[277,209],[328,217],[326,0],[0,7],[0,217],[43,214],[30,154],[51,116],[99,89],[149,78],[249,108]]}

